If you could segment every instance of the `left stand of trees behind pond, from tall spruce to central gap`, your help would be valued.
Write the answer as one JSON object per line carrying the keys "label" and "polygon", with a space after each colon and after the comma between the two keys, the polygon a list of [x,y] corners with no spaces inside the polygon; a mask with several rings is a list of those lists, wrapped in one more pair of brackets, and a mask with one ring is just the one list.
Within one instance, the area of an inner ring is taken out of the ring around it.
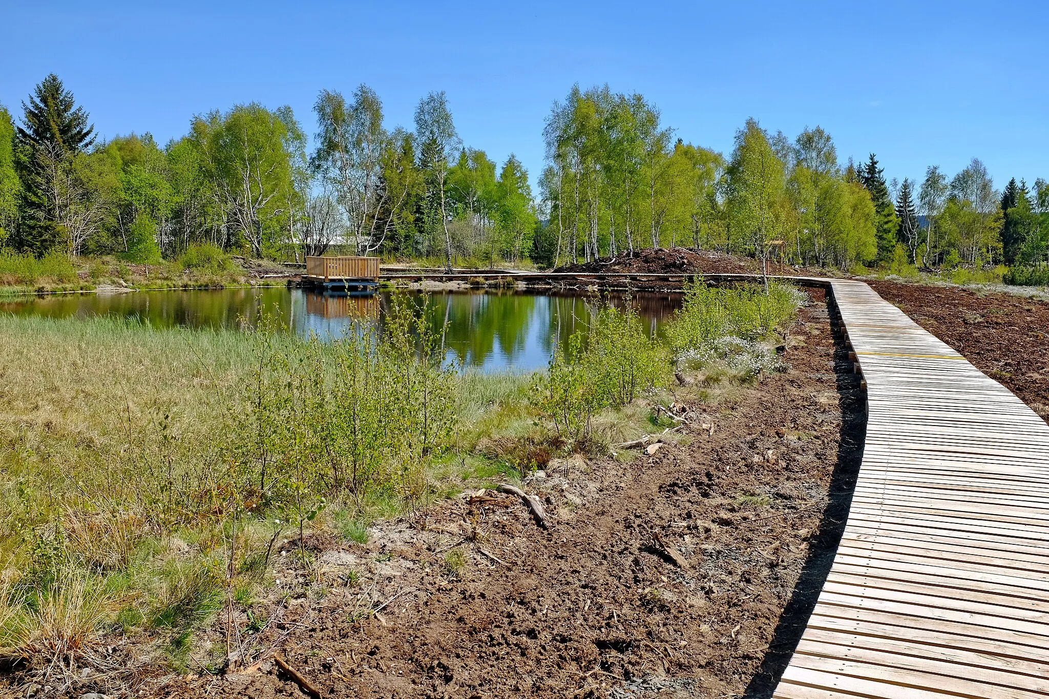
{"label": "left stand of trees behind pond, from tall spruce to central gap", "polygon": [[48,75],[16,124],[0,107],[0,246],[41,256],[151,262],[195,244],[254,257],[351,254],[527,258],[537,227],[528,173],[464,147],[443,92],[414,130],[383,127],[367,86],[324,90],[315,148],[290,107],[252,103],[194,116],[160,147],[98,141],[83,107]]}

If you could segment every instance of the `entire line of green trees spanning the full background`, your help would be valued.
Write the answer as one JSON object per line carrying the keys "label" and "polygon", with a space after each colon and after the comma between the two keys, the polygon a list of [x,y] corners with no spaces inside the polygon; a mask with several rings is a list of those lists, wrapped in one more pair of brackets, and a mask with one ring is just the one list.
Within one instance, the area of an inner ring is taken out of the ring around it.
{"label": "entire line of green trees spanning the full background", "polygon": [[1049,184],[1001,192],[979,160],[948,178],[887,180],[874,154],[839,162],[820,127],[790,139],[748,119],[725,155],[685,143],[641,94],[572,88],[543,128],[533,196],[459,138],[431,92],[413,129],[384,127],[379,95],[323,90],[313,149],[290,107],[195,115],[164,147],[95,138],[53,74],[0,107],[0,246],[154,261],[207,243],[254,257],[340,252],[557,266],[687,246],[806,265],[1041,264]]}

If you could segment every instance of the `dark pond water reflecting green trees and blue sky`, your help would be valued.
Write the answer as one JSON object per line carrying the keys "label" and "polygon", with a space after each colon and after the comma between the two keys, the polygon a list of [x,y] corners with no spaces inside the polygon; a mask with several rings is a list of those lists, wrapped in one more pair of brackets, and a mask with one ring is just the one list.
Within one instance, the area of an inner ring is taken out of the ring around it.
{"label": "dark pond water reflecting green trees and blue sky", "polygon": [[[405,291],[429,305],[435,327],[445,326],[449,361],[483,371],[531,371],[543,368],[558,343],[588,326],[598,296],[549,296],[504,291]],[[622,307],[627,300],[612,296]],[[629,300],[648,331],[659,334],[681,306],[680,294],[636,293]],[[193,291],[134,291],[113,294],[55,294],[0,302],[0,312],[50,318],[112,315],[137,319],[153,327],[239,328],[262,313],[277,314],[303,336],[339,336],[355,324],[382,325],[390,294],[347,297],[304,289],[240,288]],[[445,325],[447,323],[447,325]],[[563,346],[563,345],[562,345]]]}

